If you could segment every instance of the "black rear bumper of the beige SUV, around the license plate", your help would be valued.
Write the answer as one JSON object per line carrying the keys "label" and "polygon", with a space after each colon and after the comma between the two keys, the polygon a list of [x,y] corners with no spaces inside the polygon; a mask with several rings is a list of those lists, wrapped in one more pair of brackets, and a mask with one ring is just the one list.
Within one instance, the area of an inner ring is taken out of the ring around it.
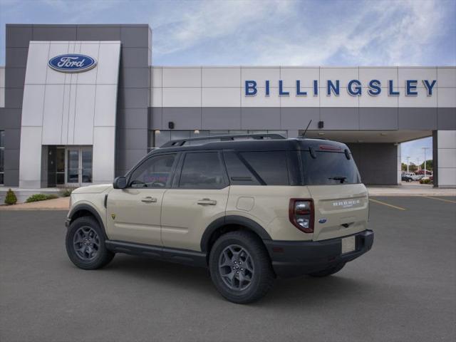
{"label": "black rear bumper of the beige SUV, around the license plate", "polygon": [[343,237],[309,242],[264,240],[264,244],[276,275],[288,278],[322,271],[336,264],[352,261],[371,249],[373,231],[365,230],[349,236],[356,237],[356,249],[346,254],[341,254]]}

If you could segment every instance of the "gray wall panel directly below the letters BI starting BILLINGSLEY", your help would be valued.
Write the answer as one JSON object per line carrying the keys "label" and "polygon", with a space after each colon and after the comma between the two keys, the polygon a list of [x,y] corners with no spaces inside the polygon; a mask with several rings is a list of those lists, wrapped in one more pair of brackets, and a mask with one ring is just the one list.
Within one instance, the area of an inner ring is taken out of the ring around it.
{"label": "gray wall panel directly below the letters BI starting BILLINGSLEY", "polygon": [[280,127],[280,108],[241,108],[242,130],[267,130]]}

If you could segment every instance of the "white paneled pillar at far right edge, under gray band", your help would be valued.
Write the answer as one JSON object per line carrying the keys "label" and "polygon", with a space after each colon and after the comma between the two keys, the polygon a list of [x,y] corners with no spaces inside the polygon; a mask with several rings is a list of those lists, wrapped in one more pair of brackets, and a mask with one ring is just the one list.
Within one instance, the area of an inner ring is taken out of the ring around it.
{"label": "white paneled pillar at far right edge, under gray band", "polygon": [[437,130],[438,187],[456,187],[456,130]]}

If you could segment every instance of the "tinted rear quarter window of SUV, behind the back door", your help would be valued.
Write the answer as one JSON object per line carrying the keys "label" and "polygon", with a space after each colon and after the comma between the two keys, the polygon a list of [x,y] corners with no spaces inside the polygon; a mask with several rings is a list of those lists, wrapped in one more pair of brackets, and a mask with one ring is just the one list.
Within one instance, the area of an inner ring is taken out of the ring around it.
{"label": "tinted rear quarter window of SUV, behind the back door", "polygon": [[241,152],[266,185],[290,185],[285,151]]}

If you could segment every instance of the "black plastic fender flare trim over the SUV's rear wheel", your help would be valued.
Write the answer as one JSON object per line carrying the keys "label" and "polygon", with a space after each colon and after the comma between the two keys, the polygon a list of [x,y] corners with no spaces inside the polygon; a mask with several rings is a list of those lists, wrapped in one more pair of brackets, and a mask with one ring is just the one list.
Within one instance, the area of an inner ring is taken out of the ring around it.
{"label": "black plastic fender flare trim over the SUV's rear wheel", "polygon": [[271,240],[271,236],[268,232],[266,232],[266,229],[261,227],[261,225],[253,219],[237,215],[228,215],[215,219],[211,224],[209,224],[209,226],[207,226],[201,238],[200,247],[202,252],[207,252],[209,250],[209,242],[212,234],[217,231],[217,229],[226,226],[227,224],[237,224],[239,226],[246,227],[256,233],[262,240]]}

